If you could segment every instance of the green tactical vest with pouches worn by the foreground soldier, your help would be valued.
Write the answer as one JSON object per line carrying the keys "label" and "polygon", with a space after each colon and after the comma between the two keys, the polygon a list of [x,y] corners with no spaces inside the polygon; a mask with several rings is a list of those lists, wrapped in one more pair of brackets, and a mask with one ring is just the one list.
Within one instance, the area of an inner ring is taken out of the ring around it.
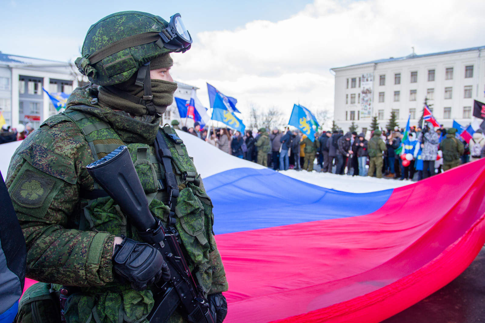
{"label": "green tactical vest with pouches worn by the foreground soldier", "polygon": [[[95,161],[119,146],[126,145],[145,190],[150,211],[160,218],[164,225],[167,224],[170,209],[163,203],[168,200],[163,181],[165,174],[157,160],[153,144],[124,143],[108,123],[87,112],[67,109],[59,118],[76,124],[88,142]],[[176,175],[179,189],[175,209],[178,239],[185,247],[194,277],[207,293],[212,282],[209,253],[216,248],[212,231],[213,205],[205,193],[200,176],[183,141],[169,137],[177,137],[175,130],[169,125],[161,127],[160,132],[172,154],[172,170]],[[81,192],[80,196],[85,205],[81,212],[84,216],[80,217],[80,230],[110,232],[116,236],[125,235],[143,241],[119,206],[115,205],[96,183],[94,191]],[[105,316],[112,322],[138,323],[145,321],[152,307],[153,297],[149,289],[137,292],[132,290],[129,284],[114,281],[103,287],[89,287],[82,289],[82,292],[74,293],[65,303],[65,317],[69,323],[90,322],[91,318],[98,323],[102,322]],[[80,308],[88,309],[83,313]],[[111,317],[113,313],[116,313],[115,317]]]}

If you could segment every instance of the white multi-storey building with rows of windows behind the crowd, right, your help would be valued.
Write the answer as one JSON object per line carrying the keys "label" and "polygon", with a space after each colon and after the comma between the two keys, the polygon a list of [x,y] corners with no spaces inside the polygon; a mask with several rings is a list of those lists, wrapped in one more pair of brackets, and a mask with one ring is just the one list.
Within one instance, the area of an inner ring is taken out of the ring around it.
{"label": "white multi-storey building with rows of windows behind the crowd, right", "polygon": [[332,68],[335,72],[334,118],[347,130],[352,122],[369,127],[377,116],[385,127],[391,111],[404,127],[408,115],[417,125],[423,102],[433,105],[433,115],[445,127],[453,119],[467,125],[472,120],[473,99],[484,101],[485,46],[441,53],[389,58]]}

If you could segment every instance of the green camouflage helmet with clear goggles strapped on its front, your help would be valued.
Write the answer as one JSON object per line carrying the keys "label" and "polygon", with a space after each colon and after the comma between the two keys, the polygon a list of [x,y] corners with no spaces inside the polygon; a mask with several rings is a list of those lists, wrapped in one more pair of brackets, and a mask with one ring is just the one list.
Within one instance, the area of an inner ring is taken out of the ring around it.
{"label": "green camouflage helmet with clear goggles strapped on its front", "polygon": [[173,15],[169,23],[157,15],[123,11],[89,28],[82,57],[75,64],[92,83],[113,85],[127,81],[159,55],[185,52],[191,43],[179,14]]}

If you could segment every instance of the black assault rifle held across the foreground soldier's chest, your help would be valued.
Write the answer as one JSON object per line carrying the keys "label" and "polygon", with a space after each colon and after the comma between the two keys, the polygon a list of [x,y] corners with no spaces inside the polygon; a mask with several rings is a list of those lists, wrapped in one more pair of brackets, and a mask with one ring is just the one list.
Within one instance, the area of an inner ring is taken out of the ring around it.
{"label": "black assault rifle held across the foreground soldier's chest", "polygon": [[180,308],[182,316],[191,323],[214,323],[209,302],[195,284],[175,232],[164,229],[148,208],[148,200],[128,148],[120,146],[86,169],[120,206],[143,240],[160,251],[170,269],[170,281],[155,284],[155,305],[147,316],[148,321],[165,323]]}

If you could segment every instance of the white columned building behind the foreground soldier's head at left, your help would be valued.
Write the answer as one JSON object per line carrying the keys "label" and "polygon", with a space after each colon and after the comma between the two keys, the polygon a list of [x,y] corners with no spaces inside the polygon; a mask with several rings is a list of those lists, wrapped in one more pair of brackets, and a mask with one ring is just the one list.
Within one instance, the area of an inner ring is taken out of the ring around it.
{"label": "white columned building behind the foreground soldier's head at left", "polygon": [[[78,87],[76,68],[67,62],[57,62],[31,57],[3,54],[0,52],[0,112],[8,125],[32,123],[36,129],[51,115],[58,113],[47,93],[70,94]],[[177,82],[174,96],[190,100],[192,89],[198,88]],[[47,85],[47,86],[46,86]],[[177,104],[167,108],[163,123],[177,119],[180,123]],[[187,123],[194,122],[189,120]]]}

